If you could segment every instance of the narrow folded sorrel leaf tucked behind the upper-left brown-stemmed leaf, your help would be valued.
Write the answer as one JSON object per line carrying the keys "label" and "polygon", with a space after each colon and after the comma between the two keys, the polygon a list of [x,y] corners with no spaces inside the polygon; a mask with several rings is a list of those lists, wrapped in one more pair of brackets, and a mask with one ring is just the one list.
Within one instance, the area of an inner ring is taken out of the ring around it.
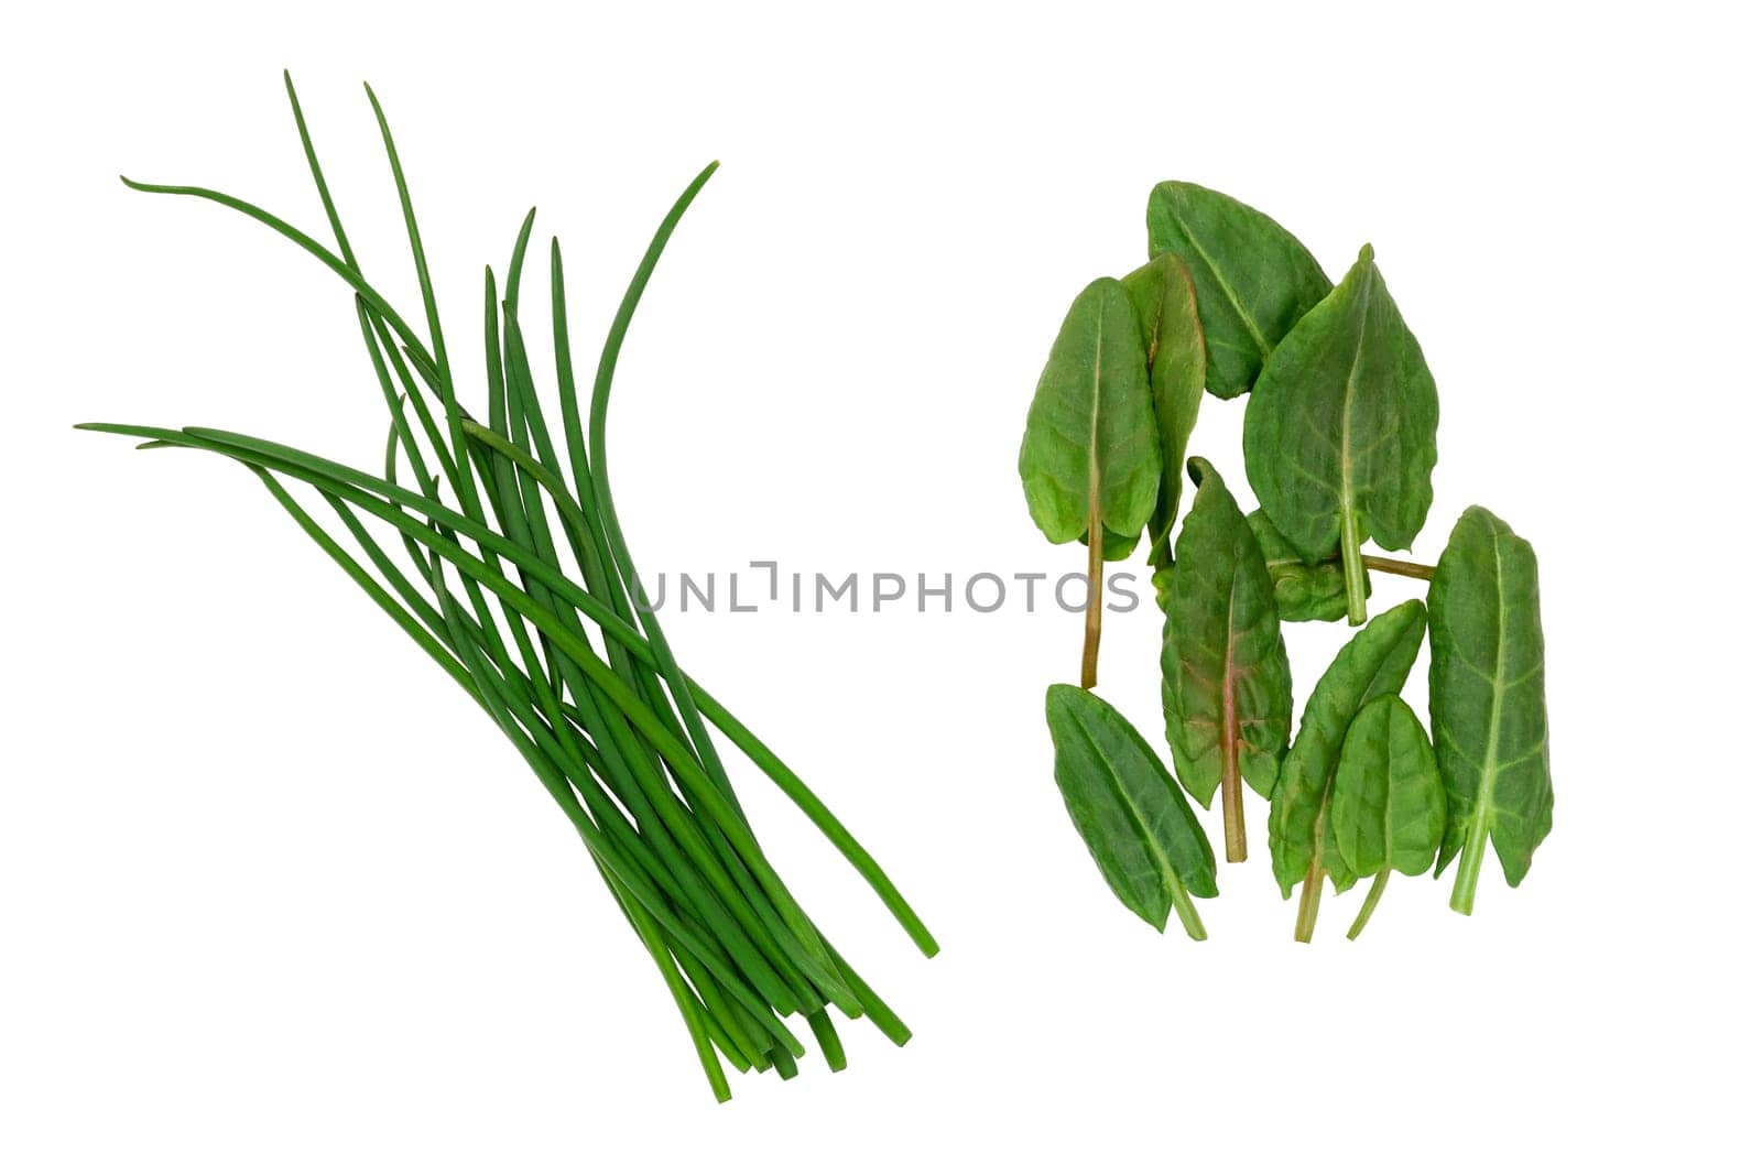
{"label": "narrow folded sorrel leaf tucked behind the upper-left brown-stemmed leaf", "polygon": [[1205,335],[1200,331],[1193,277],[1175,254],[1163,254],[1126,275],[1138,331],[1151,365],[1151,409],[1163,447],[1163,484],[1151,514],[1151,565],[1168,562],[1168,532],[1181,511],[1181,472],[1188,437],[1205,395]]}

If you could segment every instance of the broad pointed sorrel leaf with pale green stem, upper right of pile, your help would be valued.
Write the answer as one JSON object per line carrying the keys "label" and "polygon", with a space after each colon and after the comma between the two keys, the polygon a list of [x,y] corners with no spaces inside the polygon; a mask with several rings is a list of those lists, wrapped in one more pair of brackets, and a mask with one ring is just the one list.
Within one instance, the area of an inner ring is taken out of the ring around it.
{"label": "broad pointed sorrel leaf with pale green stem, upper right of pile", "polygon": [[1346,618],[1364,624],[1364,536],[1408,548],[1438,463],[1438,388],[1369,245],[1274,351],[1242,430],[1267,518],[1311,564],[1341,553]]}

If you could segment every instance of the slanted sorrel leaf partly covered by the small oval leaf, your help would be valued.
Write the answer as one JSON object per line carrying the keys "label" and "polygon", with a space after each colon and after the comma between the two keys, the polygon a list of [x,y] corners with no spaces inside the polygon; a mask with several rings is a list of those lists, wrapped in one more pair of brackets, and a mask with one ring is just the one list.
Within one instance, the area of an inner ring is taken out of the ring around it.
{"label": "slanted sorrel leaf partly covered by the small oval leaf", "polygon": [[1272,876],[1284,897],[1318,860],[1336,890],[1346,890],[1359,879],[1341,858],[1329,826],[1339,750],[1364,703],[1378,694],[1401,692],[1424,636],[1425,604],[1417,599],[1396,604],[1339,650],[1309,694],[1297,740],[1279,768],[1267,821]]}

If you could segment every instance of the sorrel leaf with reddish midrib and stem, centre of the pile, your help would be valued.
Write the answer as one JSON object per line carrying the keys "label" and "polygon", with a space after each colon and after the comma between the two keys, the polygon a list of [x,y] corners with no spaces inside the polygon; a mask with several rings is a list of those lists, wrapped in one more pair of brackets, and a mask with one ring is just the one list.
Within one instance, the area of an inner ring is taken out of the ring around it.
{"label": "sorrel leaf with reddish midrib and stem, centre of the pile", "polygon": [[1210,807],[1223,784],[1225,860],[1247,860],[1242,780],[1267,796],[1292,733],[1292,664],[1272,578],[1223,477],[1191,458],[1198,486],[1175,539],[1163,629],[1163,715],[1181,786]]}

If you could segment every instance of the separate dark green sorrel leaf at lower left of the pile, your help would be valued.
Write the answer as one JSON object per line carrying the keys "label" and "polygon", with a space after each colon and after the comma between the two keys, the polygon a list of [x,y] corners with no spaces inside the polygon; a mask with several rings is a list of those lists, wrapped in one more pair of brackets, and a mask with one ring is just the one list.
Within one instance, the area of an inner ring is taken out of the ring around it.
{"label": "separate dark green sorrel leaf at lower left of the pile", "polygon": [[1168,768],[1114,706],[1075,685],[1047,689],[1047,726],[1064,807],[1108,886],[1158,930],[1173,905],[1188,934],[1205,937],[1188,895],[1216,897],[1218,867]]}

